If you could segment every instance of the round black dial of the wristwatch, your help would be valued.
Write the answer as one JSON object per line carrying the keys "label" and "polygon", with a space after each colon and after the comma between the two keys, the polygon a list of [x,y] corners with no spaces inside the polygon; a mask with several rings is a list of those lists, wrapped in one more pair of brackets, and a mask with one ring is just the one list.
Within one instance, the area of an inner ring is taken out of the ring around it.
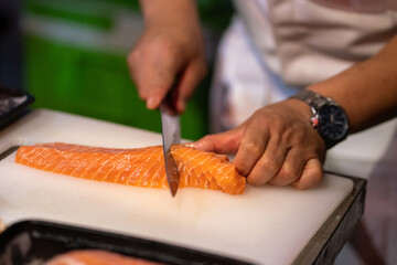
{"label": "round black dial of the wristwatch", "polygon": [[319,132],[330,140],[341,140],[347,135],[348,121],[343,109],[335,105],[325,105],[319,113]]}

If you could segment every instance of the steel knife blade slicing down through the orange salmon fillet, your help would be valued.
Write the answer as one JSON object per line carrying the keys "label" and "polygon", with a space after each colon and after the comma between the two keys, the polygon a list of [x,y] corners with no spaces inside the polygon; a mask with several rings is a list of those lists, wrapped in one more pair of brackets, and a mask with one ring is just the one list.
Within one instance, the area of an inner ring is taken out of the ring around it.
{"label": "steel knife blade slicing down through the orange salmon fillet", "polygon": [[164,151],[167,182],[170,187],[172,197],[176,194],[180,181],[180,172],[172,157],[171,148],[181,142],[181,125],[179,115],[173,112],[167,100],[160,105],[162,141]]}

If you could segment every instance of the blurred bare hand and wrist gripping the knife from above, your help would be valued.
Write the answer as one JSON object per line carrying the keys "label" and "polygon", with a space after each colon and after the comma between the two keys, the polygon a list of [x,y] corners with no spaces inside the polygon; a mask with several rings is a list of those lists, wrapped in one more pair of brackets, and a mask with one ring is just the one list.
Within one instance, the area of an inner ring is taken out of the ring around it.
{"label": "blurred bare hand and wrist gripping the knife from above", "polygon": [[[130,74],[149,109],[174,87],[176,110],[206,72],[203,36],[193,0],[141,0],[144,31],[128,55]],[[176,80],[178,76],[178,80]]]}

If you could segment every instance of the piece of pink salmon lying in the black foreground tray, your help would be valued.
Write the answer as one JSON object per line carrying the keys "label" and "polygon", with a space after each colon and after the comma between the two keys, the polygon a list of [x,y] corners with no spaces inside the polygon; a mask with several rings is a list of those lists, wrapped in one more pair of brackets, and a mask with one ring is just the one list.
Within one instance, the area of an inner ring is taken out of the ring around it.
{"label": "piece of pink salmon lying in the black foreground tray", "polygon": [[57,255],[45,265],[160,265],[141,258],[129,257],[99,250],[72,251]]}

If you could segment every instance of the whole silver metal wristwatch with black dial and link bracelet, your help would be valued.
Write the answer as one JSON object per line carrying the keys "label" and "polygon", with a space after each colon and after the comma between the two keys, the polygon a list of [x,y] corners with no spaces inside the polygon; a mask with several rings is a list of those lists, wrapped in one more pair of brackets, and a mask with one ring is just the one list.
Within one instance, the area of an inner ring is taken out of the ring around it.
{"label": "whole silver metal wristwatch with black dial and link bracelet", "polygon": [[307,103],[312,112],[311,123],[328,149],[347,137],[348,119],[343,108],[330,97],[303,89],[291,98]]}

